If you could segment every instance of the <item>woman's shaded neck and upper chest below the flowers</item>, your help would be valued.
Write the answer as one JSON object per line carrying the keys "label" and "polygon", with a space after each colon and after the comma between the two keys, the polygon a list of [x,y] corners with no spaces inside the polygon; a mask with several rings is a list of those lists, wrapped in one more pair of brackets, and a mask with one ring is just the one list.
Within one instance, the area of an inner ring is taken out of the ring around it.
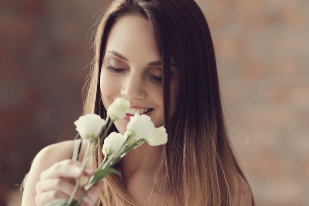
{"label": "woman's shaded neck and upper chest below the flowers", "polygon": [[140,205],[165,206],[163,171],[156,174],[162,146],[147,143],[130,151],[121,161],[126,192]]}

